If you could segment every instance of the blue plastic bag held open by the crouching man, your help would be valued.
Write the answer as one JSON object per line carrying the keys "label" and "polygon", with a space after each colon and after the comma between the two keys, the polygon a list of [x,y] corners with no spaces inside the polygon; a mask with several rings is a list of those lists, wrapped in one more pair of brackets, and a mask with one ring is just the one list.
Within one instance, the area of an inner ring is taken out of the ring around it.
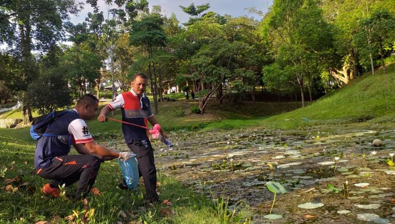
{"label": "blue plastic bag held open by the crouching man", "polygon": [[139,168],[135,154],[129,155],[129,160],[122,161],[118,159],[119,168],[122,171],[123,179],[127,187],[135,191],[139,183]]}

